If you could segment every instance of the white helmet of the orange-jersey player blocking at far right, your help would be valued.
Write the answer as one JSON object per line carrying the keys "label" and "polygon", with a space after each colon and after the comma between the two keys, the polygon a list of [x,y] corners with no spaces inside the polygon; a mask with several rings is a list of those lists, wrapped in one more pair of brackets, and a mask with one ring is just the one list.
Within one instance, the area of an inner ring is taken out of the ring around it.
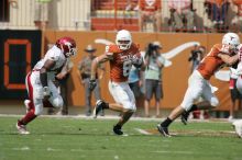
{"label": "white helmet of the orange-jersey player blocking at far right", "polygon": [[222,37],[222,44],[230,45],[231,48],[235,50],[235,48],[240,45],[240,37],[235,33],[227,33]]}

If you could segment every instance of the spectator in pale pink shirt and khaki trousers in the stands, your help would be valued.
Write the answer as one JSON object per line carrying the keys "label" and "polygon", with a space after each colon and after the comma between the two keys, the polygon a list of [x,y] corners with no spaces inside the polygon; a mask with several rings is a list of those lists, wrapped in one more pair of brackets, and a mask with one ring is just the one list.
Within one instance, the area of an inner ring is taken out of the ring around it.
{"label": "spectator in pale pink shirt and khaki trousers in the stands", "polygon": [[195,19],[194,12],[191,11],[190,0],[168,0],[168,7],[170,11],[170,16],[175,21],[175,30],[177,32],[194,30]]}

